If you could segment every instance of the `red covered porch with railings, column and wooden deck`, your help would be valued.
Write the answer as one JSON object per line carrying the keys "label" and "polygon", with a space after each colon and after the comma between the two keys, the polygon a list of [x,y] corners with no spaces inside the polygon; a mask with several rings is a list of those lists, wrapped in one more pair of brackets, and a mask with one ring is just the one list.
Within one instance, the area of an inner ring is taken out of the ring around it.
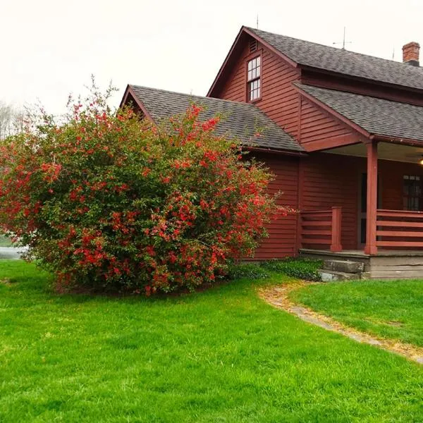
{"label": "red covered porch with railings, column and wooden deck", "polygon": [[[334,164],[333,171],[326,171],[340,181],[327,183],[321,195],[321,205],[326,207],[313,209],[310,206],[314,204],[303,200],[305,207],[300,207],[298,219],[300,255],[362,262],[370,278],[423,278],[422,147],[369,142],[329,153],[340,154],[331,157],[341,165]],[[348,185],[340,170],[352,157],[359,175],[356,192],[351,189],[353,175],[348,176]],[[306,174],[307,165],[302,171],[307,185]],[[345,195],[355,197],[355,209],[351,204],[343,205],[339,192],[333,194],[333,187],[340,185],[345,185]],[[327,207],[331,200],[331,207]]]}

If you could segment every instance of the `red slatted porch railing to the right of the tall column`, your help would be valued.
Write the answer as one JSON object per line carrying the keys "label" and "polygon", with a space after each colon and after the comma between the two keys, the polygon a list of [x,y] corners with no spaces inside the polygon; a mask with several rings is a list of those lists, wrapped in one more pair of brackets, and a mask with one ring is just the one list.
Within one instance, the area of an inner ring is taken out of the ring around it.
{"label": "red slatted porch railing to the right of the tall column", "polygon": [[423,247],[423,212],[378,209],[377,247]]}

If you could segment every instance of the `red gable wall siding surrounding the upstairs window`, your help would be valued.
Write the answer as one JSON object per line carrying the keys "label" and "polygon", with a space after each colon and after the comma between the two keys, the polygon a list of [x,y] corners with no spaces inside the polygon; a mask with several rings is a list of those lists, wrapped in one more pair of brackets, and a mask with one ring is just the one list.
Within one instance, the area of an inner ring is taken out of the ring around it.
{"label": "red gable wall siding surrounding the upstairs window", "polygon": [[299,73],[278,56],[258,43],[258,49],[250,54],[248,44],[235,64],[231,76],[218,96],[234,102],[247,100],[247,61],[262,55],[261,99],[254,102],[264,113],[281,125],[290,135],[298,135],[299,95],[292,85]]}

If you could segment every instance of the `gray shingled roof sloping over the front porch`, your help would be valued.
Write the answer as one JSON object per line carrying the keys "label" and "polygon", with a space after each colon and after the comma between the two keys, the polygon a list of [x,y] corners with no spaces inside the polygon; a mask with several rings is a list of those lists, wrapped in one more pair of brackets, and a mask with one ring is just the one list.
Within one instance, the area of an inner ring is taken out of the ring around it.
{"label": "gray shingled roof sloping over the front porch", "polygon": [[374,135],[423,141],[423,107],[295,83],[319,102]]}

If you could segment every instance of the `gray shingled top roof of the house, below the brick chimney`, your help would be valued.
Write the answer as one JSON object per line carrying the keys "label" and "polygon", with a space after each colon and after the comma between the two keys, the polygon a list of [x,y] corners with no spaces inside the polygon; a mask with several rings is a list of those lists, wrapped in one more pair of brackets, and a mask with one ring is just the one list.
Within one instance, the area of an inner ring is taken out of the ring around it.
{"label": "gray shingled top roof of the house, below the brick chimney", "polygon": [[247,29],[300,65],[423,90],[423,68],[418,66]]}

